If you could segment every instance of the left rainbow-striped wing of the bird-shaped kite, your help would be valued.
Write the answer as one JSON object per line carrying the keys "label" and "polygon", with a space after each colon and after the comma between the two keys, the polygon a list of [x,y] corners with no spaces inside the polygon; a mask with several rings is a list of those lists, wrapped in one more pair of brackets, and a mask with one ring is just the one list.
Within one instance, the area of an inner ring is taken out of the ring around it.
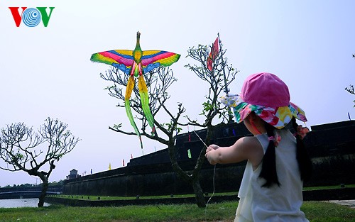
{"label": "left rainbow-striped wing of the bird-shaped kite", "polygon": [[132,50],[110,50],[105,52],[97,52],[92,54],[90,60],[92,62],[102,62],[112,65],[126,74],[129,74],[134,62]]}

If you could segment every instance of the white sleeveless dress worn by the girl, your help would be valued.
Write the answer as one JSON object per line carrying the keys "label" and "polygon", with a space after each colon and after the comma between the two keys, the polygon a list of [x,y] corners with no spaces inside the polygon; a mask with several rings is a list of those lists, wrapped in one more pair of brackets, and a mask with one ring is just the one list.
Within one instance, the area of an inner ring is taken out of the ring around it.
{"label": "white sleeveless dress worn by the girl", "polygon": [[[251,162],[248,161],[238,193],[240,200],[234,221],[308,221],[305,213],[300,211],[303,183],[296,160],[296,139],[285,129],[278,130],[278,134],[281,140],[275,148],[275,155],[280,187],[261,187],[265,183],[265,179],[258,178],[261,164],[253,171]],[[268,148],[268,135],[264,133],[256,135],[256,138],[265,153]]]}

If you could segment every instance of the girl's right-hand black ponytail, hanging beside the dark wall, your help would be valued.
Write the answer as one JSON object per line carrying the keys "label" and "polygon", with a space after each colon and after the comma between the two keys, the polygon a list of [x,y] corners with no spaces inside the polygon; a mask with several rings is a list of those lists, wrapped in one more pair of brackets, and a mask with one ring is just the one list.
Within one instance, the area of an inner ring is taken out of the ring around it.
{"label": "girl's right-hand black ponytail, hanging beside the dark wall", "polygon": [[295,137],[297,141],[296,158],[298,162],[298,167],[300,168],[301,179],[306,182],[310,179],[312,174],[312,161],[305,148],[305,143],[300,135],[297,134],[298,124],[296,123],[295,117],[292,119],[292,126],[295,130]]}

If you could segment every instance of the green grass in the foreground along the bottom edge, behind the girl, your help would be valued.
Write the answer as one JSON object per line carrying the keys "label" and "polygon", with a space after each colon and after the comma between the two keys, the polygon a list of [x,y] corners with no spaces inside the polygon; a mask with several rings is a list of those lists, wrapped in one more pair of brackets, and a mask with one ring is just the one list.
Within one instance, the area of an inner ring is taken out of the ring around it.
{"label": "green grass in the foreground along the bottom edge, behind the girl", "polygon": [[[0,209],[0,221],[234,221],[238,202],[209,204],[199,209],[196,204],[69,207],[52,205],[44,208]],[[355,209],[330,202],[306,201],[302,206],[312,222],[355,221]]]}

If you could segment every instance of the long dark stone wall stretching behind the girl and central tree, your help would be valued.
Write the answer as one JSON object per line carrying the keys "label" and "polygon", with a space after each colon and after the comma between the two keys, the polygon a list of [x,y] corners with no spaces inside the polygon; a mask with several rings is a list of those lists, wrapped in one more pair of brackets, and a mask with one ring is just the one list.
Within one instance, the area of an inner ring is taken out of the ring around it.
{"label": "long dark stone wall stretching behind the girl and central tree", "polygon": [[[212,143],[231,145],[248,131],[243,124],[231,123],[214,131]],[[206,131],[198,131],[204,138]],[[312,126],[305,138],[314,166],[313,177],[305,186],[355,184],[355,121]],[[190,149],[192,158],[187,156]],[[178,135],[176,155],[184,170],[195,167],[204,145],[195,133]],[[202,166],[200,183],[204,192],[237,192],[246,162],[234,165]],[[214,184],[213,184],[214,178]],[[192,187],[180,179],[170,164],[168,149],[132,159],[126,167],[70,179],[64,194],[104,196],[152,196],[191,194]]]}

